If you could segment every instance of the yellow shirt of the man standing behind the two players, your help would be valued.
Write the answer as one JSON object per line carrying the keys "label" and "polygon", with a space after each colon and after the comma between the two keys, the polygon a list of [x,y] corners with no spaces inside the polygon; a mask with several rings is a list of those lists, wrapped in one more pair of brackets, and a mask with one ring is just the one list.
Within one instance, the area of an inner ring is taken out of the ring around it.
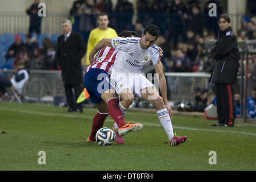
{"label": "yellow shirt of the man standing behind the two players", "polygon": [[[89,54],[96,46],[101,39],[107,38],[117,38],[117,32],[113,28],[108,28],[108,30],[100,30],[100,28],[94,28],[89,35],[88,43],[87,43],[87,51],[86,51],[86,65],[90,65]],[[95,55],[94,55],[95,56]]]}

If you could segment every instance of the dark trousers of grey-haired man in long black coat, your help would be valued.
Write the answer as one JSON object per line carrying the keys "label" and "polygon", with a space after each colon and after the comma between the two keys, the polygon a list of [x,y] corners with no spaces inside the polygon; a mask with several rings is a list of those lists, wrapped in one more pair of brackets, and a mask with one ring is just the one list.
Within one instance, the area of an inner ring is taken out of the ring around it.
{"label": "dark trousers of grey-haired man in long black coat", "polygon": [[[82,109],[82,105],[81,104],[77,104],[77,98],[80,96],[82,90],[84,90],[84,86],[82,84],[77,84],[77,85],[69,85],[69,84],[65,84],[65,93],[66,93],[66,97],[67,97],[67,102],[70,108],[72,109]],[[73,94],[72,89],[74,89],[75,91],[75,96]]]}

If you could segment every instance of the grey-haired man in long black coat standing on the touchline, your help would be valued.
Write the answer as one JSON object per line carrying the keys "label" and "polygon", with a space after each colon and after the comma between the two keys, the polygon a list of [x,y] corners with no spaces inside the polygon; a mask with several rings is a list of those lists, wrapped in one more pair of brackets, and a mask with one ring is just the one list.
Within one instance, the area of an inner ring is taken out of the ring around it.
{"label": "grey-haired man in long black coat standing on the touchline", "polygon": [[57,39],[55,61],[60,65],[62,71],[65,94],[69,105],[68,112],[82,113],[82,105],[76,104],[72,89],[75,91],[77,100],[84,89],[81,59],[85,55],[86,47],[82,35],[72,32],[70,20],[64,20],[62,30],[64,34]]}

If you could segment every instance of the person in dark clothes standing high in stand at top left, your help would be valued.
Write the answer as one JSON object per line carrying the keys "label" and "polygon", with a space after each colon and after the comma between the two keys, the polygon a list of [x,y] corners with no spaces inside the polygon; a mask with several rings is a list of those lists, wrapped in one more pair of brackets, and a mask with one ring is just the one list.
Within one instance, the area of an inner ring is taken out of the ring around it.
{"label": "person in dark clothes standing high in stand at top left", "polygon": [[39,0],[34,0],[34,3],[27,9],[27,14],[30,15],[30,27],[28,29],[28,34],[32,34],[32,32],[36,32],[36,34],[41,33],[41,24],[42,17],[38,16],[38,11],[40,8],[38,7]]}

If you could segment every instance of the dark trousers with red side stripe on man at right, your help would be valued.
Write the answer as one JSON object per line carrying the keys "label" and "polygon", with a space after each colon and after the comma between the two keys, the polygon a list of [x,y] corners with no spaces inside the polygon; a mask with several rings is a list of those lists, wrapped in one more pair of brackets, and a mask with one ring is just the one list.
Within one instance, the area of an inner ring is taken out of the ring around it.
{"label": "dark trousers with red side stripe on man at right", "polygon": [[230,84],[215,84],[218,122],[234,125],[234,89]]}

